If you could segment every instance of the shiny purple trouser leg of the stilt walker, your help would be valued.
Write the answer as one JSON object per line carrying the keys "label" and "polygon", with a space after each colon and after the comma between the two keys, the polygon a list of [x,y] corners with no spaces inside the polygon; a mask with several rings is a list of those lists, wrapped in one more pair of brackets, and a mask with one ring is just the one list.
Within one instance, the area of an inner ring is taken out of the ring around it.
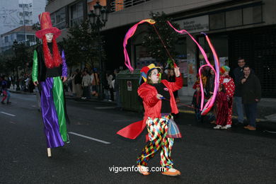
{"label": "shiny purple trouser leg of the stilt walker", "polygon": [[64,142],[59,134],[59,121],[54,108],[54,98],[52,96],[53,79],[47,78],[41,85],[41,110],[44,122],[44,132],[47,139],[47,147],[54,148],[63,146]]}

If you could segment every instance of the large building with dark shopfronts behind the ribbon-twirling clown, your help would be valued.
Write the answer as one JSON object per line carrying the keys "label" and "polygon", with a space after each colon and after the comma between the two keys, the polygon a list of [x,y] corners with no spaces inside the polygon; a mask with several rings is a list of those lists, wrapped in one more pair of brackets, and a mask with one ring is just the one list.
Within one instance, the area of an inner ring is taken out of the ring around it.
{"label": "large building with dark shopfronts behind the ribbon-twirling clown", "polygon": [[[54,13],[64,6],[82,4],[83,13],[76,13],[79,16],[74,16],[74,8],[67,8],[65,20],[69,26],[74,18],[86,18],[93,4],[93,1],[70,1],[71,5],[67,2],[52,1],[46,9]],[[109,46],[106,47],[107,65],[123,65],[122,41],[131,25],[149,18],[150,12],[164,12],[173,18],[181,29],[192,33],[207,52],[211,62],[214,60],[212,52],[201,32],[209,35],[221,64],[227,64],[234,69],[237,67],[238,57],[244,57],[246,64],[252,67],[260,78],[263,97],[276,98],[276,1],[110,0],[105,3],[111,11],[102,30]],[[142,67],[140,63],[146,59],[154,59],[146,55],[146,47],[141,46],[146,35],[142,29],[138,28],[137,33],[129,40],[130,57],[132,66],[135,67]],[[179,53],[176,59],[185,79],[179,94],[191,96],[197,70],[204,64],[204,60],[195,43],[187,35],[179,36],[176,50]]]}

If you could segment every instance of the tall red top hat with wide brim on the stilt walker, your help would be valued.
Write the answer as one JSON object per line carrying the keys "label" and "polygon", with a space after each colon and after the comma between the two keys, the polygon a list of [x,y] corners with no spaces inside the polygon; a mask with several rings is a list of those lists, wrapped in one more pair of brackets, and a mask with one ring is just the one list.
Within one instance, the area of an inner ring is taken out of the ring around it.
{"label": "tall red top hat with wide brim on the stilt walker", "polygon": [[59,37],[59,35],[62,33],[61,30],[58,28],[52,27],[52,21],[50,17],[50,12],[42,12],[38,16],[38,19],[40,21],[41,30],[38,30],[35,35],[37,38],[42,39],[44,35],[47,33],[53,33],[55,37]]}

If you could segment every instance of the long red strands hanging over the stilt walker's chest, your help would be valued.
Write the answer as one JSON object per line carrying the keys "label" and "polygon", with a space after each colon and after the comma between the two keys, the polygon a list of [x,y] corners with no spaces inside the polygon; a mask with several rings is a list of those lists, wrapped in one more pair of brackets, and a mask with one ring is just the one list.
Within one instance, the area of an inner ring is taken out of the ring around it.
{"label": "long red strands hanging over the stilt walker's chest", "polygon": [[56,38],[55,37],[52,38],[52,54],[47,45],[46,36],[42,38],[42,47],[43,47],[46,67],[49,69],[52,69],[54,67],[59,67],[59,65],[62,64],[62,57],[60,57],[60,54],[59,54]]}

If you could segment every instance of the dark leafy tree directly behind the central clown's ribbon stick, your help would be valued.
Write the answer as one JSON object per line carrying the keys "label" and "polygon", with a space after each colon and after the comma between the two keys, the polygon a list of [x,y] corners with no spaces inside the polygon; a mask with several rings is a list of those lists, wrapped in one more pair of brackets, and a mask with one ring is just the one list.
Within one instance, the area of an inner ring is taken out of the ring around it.
{"label": "dark leafy tree directly behind the central clown's ribbon stick", "polygon": [[[146,50],[149,52],[149,55],[155,59],[158,59],[162,64],[166,63],[170,59],[166,49],[164,48],[161,39],[166,45],[168,52],[171,54],[173,59],[176,57],[177,52],[175,51],[175,45],[178,41],[179,34],[168,25],[167,21],[170,21],[175,28],[179,28],[177,23],[173,23],[171,18],[169,18],[166,13],[153,13],[149,14],[156,23],[154,24],[157,32],[154,30],[153,26],[149,26],[148,35],[144,37],[144,42],[142,45],[146,47]],[[159,38],[159,35],[161,39]]]}

